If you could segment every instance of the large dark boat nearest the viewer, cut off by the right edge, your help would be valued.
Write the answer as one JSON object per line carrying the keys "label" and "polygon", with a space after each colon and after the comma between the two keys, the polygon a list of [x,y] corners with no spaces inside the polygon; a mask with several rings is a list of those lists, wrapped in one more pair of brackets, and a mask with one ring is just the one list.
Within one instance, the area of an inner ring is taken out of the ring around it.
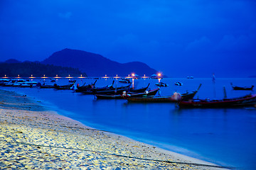
{"label": "large dark boat nearest the viewer, cut off by the right edge", "polygon": [[239,106],[252,106],[256,104],[256,94],[238,98],[223,98],[220,100],[191,99],[180,101],[180,108],[232,108]]}

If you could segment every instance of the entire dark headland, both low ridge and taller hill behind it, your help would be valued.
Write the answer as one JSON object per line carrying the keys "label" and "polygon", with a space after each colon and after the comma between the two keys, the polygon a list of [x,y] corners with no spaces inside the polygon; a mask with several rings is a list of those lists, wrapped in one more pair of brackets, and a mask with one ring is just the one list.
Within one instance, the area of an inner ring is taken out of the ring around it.
{"label": "entire dark headland, both low ridge and taller hill behind it", "polygon": [[92,52],[82,50],[64,49],[54,52],[53,55],[42,62],[20,62],[15,59],[0,62],[0,77],[54,77],[58,74],[60,77],[67,77],[69,74],[73,77],[102,77],[102,76],[127,76],[136,73],[139,76],[150,76],[156,74],[156,69],[152,69],[143,62],[119,63],[97,55]]}

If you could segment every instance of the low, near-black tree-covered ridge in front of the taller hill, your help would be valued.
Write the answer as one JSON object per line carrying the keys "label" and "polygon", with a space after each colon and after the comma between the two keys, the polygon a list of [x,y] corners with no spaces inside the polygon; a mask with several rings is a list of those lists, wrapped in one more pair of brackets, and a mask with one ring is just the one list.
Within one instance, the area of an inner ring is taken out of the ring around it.
{"label": "low, near-black tree-covered ridge in front of the taller hill", "polygon": [[54,66],[53,64],[41,64],[38,62],[21,62],[21,63],[0,63],[0,77],[86,77],[84,72],[71,67]]}

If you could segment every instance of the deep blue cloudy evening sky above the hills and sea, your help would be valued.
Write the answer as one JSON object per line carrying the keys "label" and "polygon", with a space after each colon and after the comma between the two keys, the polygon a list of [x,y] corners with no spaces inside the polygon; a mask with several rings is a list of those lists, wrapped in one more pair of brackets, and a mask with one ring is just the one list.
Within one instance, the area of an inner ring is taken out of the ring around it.
{"label": "deep blue cloudy evening sky above the hills and sea", "polygon": [[256,75],[256,1],[1,0],[0,59],[68,47],[169,77]]}

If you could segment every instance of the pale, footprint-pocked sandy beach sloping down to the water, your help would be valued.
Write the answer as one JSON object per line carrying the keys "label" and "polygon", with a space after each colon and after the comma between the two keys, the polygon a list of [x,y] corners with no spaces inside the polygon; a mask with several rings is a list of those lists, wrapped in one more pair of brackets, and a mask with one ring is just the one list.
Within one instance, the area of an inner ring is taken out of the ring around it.
{"label": "pale, footprint-pocked sandy beach sloping down to the water", "polygon": [[89,128],[28,96],[0,90],[0,169],[220,169]]}

